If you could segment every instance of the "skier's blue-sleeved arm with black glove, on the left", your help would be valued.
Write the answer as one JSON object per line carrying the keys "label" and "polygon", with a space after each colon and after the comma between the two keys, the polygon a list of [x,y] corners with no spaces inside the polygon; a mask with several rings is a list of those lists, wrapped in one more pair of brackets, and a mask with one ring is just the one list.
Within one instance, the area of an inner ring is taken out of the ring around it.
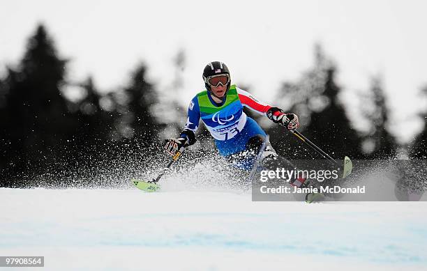
{"label": "skier's blue-sleeved arm with black glove, on the left", "polygon": [[188,106],[188,117],[186,127],[182,130],[178,139],[165,139],[165,149],[170,155],[174,156],[181,147],[187,147],[195,144],[197,141],[195,138],[195,132],[199,126],[200,121],[200,109],[197,101],[197,97],[191,100]]}

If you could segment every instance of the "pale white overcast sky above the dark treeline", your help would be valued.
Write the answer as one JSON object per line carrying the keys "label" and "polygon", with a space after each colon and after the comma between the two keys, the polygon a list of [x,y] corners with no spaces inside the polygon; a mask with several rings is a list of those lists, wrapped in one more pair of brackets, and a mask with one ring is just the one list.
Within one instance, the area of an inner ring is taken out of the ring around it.
{"label": "pale white overcast sky above the dark treeline", "polygon": [[[181,102],[203,88],[209,61],[227,63],[234,82],[251,86],[274,104],[280,82],[313,65],[321,42],[338,64],[347,102],[381,74],[400,139],[421,130],[414,114],[426,108],[417,96],[427,84],[426,1],[1,1],[0,72],[17,63],[37,22],[43,22],[70,78],[93,75],[105,91],[126,84],[139,61],[167,91],[172,58],[186,50]],[[402,125],[404,122],[404,125]],[[406,131],[410,131],[407,133]]]}

